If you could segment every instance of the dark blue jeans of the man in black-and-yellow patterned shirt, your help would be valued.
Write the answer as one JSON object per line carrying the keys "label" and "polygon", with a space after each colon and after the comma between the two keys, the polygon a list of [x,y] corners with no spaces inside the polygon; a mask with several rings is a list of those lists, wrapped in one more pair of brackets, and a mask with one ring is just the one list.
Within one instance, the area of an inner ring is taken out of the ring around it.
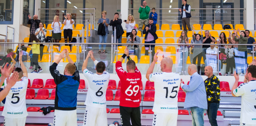
{"label": "dark blue jeans of the man in black-and-yellow patterned shirt", "polygon": [[209,122],[211,123],[211,126],[218,126],[216,118],[220,103],[207,102],[207,104],[207,116],[209,118]]}

